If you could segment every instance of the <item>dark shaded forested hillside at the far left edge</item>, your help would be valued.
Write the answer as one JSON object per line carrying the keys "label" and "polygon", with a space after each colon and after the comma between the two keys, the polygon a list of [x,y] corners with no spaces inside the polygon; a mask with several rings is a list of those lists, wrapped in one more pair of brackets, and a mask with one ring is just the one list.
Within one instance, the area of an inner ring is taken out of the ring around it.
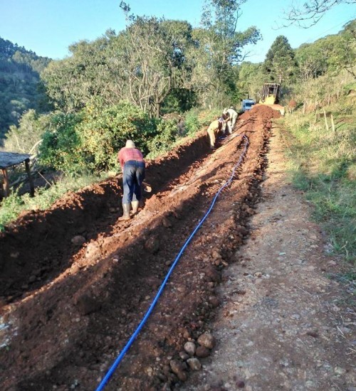
{"label": "dark shaded forested hillside at the far left edge", "polygon": [[50,62],[0,37],[0,139],[28,109],[48,110],[40,74]]}

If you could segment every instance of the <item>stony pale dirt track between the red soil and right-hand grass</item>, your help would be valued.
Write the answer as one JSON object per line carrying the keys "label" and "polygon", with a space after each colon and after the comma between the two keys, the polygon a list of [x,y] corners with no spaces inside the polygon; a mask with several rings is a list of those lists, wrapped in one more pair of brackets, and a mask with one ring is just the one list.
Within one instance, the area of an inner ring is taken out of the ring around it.
{"label": "stony pale dirt track between the red soil and right-hand grass", "polygon": [[181,390],[355,391],[355,285],[288,183],[278,129],[269,145],[251,236],[217,289],[219,343]]}

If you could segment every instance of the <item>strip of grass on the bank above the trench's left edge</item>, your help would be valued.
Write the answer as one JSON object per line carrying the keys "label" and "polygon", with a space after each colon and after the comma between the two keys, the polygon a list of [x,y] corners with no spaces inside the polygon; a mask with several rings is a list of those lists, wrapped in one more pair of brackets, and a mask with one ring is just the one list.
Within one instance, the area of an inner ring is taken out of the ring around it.
{"label": "strip of grass on the bank above the trench's left edge", "polygon": [[76,191],[79,188],[101,181],[103,178],[103,176],[62,178],[60,181],[52,183],[49,188],[37,188],[33,198],[28,193],[19,195],[17,191],[14,191],[9,197],[4,198],[0,204],[0,231],[4,231],[5,226],[16,220],[22,212],[48,209],[68,191]]}

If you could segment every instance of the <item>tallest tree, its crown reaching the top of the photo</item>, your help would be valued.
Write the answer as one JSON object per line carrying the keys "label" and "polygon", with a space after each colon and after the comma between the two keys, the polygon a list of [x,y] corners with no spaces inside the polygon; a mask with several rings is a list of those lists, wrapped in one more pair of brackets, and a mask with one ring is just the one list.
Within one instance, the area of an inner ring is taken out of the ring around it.
{"label": "tallest tree, its crown reaching the top of the photo", "polygon": [[192,87],[204,107],[229,103],[236,92],[233,66],[244,59],[245,45],[261,39],[254,26],[237,31],[244,2],[246,0],[206,1],[202,27],[193,31],[196,46],[188,56],[192,64]]}

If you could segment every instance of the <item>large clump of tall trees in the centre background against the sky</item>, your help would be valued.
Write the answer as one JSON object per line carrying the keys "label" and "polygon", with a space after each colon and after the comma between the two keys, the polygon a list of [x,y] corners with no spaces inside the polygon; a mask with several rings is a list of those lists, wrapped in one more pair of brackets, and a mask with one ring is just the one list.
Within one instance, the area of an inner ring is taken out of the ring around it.
{"label": "large clump of tall trees in the centre background against the sky", "polygon": [[255,27],[236,31],[243,2],[211,1],[214,21],[196,30],[186,21],[130,15],[121,2],[125,31],[71,45],[70,57],[42,73],[48,95],[63,112],[80,111],[100,96],[107,106],[129,100],[156,118],[197,102],[224,105],[236,97],[233,65],[245,45],[261,38]]}

